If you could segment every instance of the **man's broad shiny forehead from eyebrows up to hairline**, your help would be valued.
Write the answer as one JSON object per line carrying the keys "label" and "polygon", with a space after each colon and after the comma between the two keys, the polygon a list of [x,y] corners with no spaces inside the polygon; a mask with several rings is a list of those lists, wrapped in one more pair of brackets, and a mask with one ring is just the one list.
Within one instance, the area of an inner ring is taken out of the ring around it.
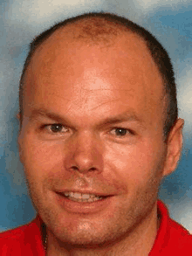
{"label": "man's broad shiny forehead from eyebrows up to hairline", "polygon": [[107,44],[94,44],[81,33],[79,26],[69,25],[38,48],[26,73],[25,102],[49,105],[54,96],[57,109],[65,100],[80,106],[82,113],[111,101],[119,108],[143,112],[147,107],[156,114],[162,108],[163,86],[141,38],[119,30]]}

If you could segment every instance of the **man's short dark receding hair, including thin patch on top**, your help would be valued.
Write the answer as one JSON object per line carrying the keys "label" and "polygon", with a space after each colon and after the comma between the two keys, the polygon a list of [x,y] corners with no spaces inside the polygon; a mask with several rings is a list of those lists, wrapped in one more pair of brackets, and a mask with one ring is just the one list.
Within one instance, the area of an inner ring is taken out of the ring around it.
{"label": "man's short dark receding hair, including thin patch on top", "polygon": [[[88,23],[87,23],[88,22]],[[105,25],[104,25],[105,24]],[[74,26],[75,25],[75,26]],[[83,26],[82,26],[83,25]],[[24,64],[24,70],[22,73],[22,77],[20,80],[20,91],[19,91],[19,104],[20,104],[20,114],[22,116],[23,113],[23,86],[24,86],[24,76],[28,66],[31,63],[31,59],[33,59],[33,55],[35,52],[38,52],[38,47],[44,45],[45,41],[47,41],[52,36],[57,34],[57,31],[65,31],[65,29],[69,29],[72,26],[71,33],[74,34],[74,27],[80,27],[79,35],[74,36],[75,39],[81,40],[89,40],[89,43],[99,44],[105,43],[104,45],[113,44],[113,38],[118,38],[120,33],[129,33],[131,32],[137,38],[140,38],[144,45],[147,46],[147,51],[153,59],[155,66],[160,73],[162,79],[162,86],[165,90],[165,95],[168,100],[166,104],[167,108],[167,119],[165,121],[165,130],[164,134],[167,137],[170,128],[172,128],[175,119],[178,116],[177,113],[177,101],[176,101],[176,90],[175,90],[175,78],[173,72],[173,66],[171,64],[171,60],[169,59],[168,52],[163,48],[161,43],[158,42],[154,36],[147,31],[145,28],[142,28],[138,24],[134,24],[134,22],[130,21],[125,17],[119,17],[115,14],[111,13],[87,13],[77,17],[72,17],[69,19],[65,19],[63,22],[53,25],[49,30],[41,33],[37,38],[31,42],[31,51],[28,54],[28,57]],[[166,64],[164,65],[164,61],[166,59]],[[168,64],[167,64],[168,63]],[[173,100],[170,99],[173,97]],[[173,111],[172,111],[173,109]],[[165,110],[166,111],[166,110]],[[170,118],[170,121],[169,121]]]}

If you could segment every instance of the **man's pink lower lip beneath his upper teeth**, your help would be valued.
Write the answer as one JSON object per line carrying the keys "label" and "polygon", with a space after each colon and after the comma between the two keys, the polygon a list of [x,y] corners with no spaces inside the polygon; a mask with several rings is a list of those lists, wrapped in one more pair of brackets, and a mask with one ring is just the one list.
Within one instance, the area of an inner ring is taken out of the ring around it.
{"label": "man's pink lower lip beneath his upper teeth", "polygon": [[103,199],[99,199],[98,201],[94,201],[91,203],[83,203],[83,202],[76,202],[72,201],[69,198],[56,193],[58,203],[65,208],[65,211],[69,211],[72,213],[95,213],[99,211],[103,211],[106,209],[107,206],[109,206],[112,197],[105,197]]}

